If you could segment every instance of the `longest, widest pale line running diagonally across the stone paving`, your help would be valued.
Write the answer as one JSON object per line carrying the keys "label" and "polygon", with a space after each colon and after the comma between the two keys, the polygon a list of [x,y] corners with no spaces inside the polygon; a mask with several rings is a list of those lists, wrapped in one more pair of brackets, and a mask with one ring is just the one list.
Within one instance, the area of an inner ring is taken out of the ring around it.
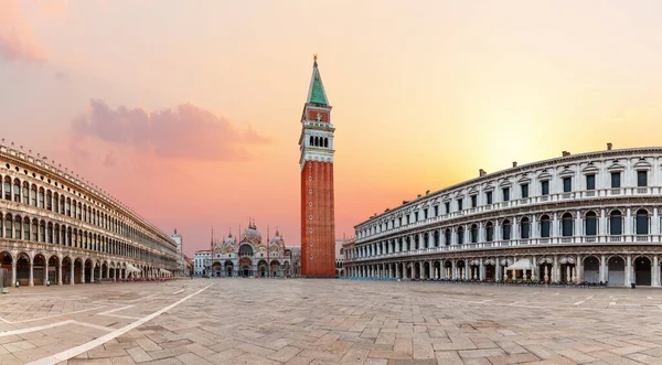
{"label": "longest, widest pale line running diagonally across the stone paving", "polygon": [[194,292],[194,293],[192,293],[192,294],[190,294],[188,297],[184,297],[184,298],[178,300],[177,302],[174,302],[174,303],[172,303],[172,304],[170,304],[170,305],[168,305],[166,308],[162,308],[162,309],[160,309],[160,310],[158,310],[158,311],[156,311],[156,312],[153,312],[153,313],[151,313],[151,314],[149,314],[147,316],[143,316],[142,319],[140,319],[140,320],[138,320],[136,322],[129,323],[129,324],[125,325],[121,329],[115,330],[115,331],[113,331],[113,332],[110,332],[108,334],[105,334],[105,335],[103,335],[103,336],[100,336],[98,339],[95,339],[93,341],[89,341],[87,343],[78,345],[76,347],[73,347],[73,348],[70,348],[70,350],[65,350],[65,351],[63,351],[61,353],[57,353],[55,355],[51,355],[49,357],[40,358],[38,361],[34,361],[34,362],[30,363],[30,365],[51,365],[51,364],[57,364],[60,362],[65,362],[65,361],[68,361],[70,358],[72,358],[72,357],[75,357],[75,356],[78,356],[78,355],[81,355],[83,353],[86,353],[86,352],[90,351],[92,348],[94,348],[96,346],[99,346],[99,345],[103,345],[103,344],[105,344],[106,342],[108,342],[110,340],[117,339],[118,336],[120,336],[120,335],[122,335],[122,334],[125,334],[125,333],[134,330],[135,328],[137,328],[137,326],[139,326],[139,325],[141,325],[141,324],[143,324],[143,323],[146,323],[146,322],[148,322],[148,321],[150,321],[150,320],[152,320],[152,319],[161,315],[163,312],[166,312],[166,311],[168,311],[168,310],[170,310],[170,309],[172,309],[172,308],[174,308],[174,307],[183,303],[184,301],[189,300],[190,298],[192,298],[192,297],[194,297],[194,296],[203,292],[204,290],[206,290],[211,286],[213,286],[213,283],[211,283],[211,285],[209,285],[209,286],[200,289],[199,291],[196,291],[196,292]]}

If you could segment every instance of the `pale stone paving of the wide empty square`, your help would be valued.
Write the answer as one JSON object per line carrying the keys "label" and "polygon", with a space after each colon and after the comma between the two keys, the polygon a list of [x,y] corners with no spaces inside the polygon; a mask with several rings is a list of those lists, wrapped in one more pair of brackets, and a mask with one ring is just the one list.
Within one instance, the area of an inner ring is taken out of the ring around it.
{"label": "pale stone paving of the wide empty square", "polygon": [[0,297],[0,364],[84,344],[191,294],[68,363],[662,364],[661,290],[313,279],[19,289]]}

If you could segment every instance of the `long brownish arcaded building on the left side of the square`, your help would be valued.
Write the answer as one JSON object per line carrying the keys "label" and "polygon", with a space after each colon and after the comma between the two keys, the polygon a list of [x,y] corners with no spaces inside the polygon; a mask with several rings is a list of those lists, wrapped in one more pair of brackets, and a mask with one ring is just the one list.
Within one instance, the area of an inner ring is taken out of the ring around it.
{"label": "long brownish arcaded building on the left side of the square", "polygon": [[11,283],[75,285],[166,277],[177,246],[72,173],[0,146],[0,265]]}

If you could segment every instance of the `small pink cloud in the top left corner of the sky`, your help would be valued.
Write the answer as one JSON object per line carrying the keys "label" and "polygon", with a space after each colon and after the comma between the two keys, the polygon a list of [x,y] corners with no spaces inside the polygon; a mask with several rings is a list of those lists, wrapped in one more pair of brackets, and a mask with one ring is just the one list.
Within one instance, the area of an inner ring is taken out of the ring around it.
{"label": "small pink cloud in the top left corner of the sky", "polygon": [[46,58],[45,51],[34,40],[32,25],[18,0],[0,1],[0,57],[28,62]]}

